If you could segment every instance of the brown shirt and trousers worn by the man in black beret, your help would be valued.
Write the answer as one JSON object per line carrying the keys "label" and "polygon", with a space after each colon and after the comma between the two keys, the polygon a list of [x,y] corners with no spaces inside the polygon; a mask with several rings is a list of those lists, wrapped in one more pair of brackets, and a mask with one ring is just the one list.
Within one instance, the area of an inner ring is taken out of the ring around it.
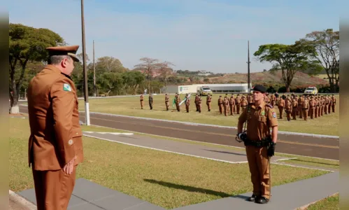
{"label": "brown shirt and trousers worn by the man in black beret", "polygon": [[[248,120],[247,136],[250,141],[261,141],[264,137],[270,137],[270,127],[278,126],[274,109],[266,105],[265,102],[257,107],[252,105],[245,109],[238,118],[238,123],[244,123],[245,120]],[[266,146],[262,148],[246,146],[246,155],[253,184],[253,194],[270,199],[270,162]]]}

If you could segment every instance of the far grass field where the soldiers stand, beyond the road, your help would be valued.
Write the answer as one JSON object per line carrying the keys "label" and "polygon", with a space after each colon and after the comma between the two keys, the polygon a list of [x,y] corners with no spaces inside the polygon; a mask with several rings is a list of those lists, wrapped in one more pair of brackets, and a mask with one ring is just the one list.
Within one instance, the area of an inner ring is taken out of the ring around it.
{"label": "far grass field where the soldiers stand, beyond the road", "polygon": [[[225,94],[222,94],[225,96]],[[183,99],[183,95],[181,96]],[[141,105],[138,97],[122,97],[122,98],[105,98],[105,99],[90,99],[90,111],[101,113],[114,113],[124,116],[136,116],[144,118],[156,118],[163,120],[176,120],[191,123],[204,123],[211,125],[224,125],[236,127],[238,122],[238,115],[224,116],[221,115],[218,109],[217,100],[219,94],[213,95],[211,103],[211,112],[208,112],[206,106],[206,97],[203,97],[202,111],[196,112],[194,97],[190,104],[190,112],[185,111],[185,106],[182,104],[180,112],[170,106],[170,111],[166,111],[163,95],[155,95],[153,97],[153,109],[149,109],[148,97],[145,97],[144,109],[141,109]],[[170,99],[173,99],[171,95]],[[84,101],[79,100],[80,111],[85,111]],[[171,105],[171,104],[170,104]],[[276,111],[278,114],[278,110]],[[287,132],[304,132],[311,134],[325,134],[339,136],[339,96],[337,96],[336,113],[322,116],[308,121],[301,119],[287,121],[278,120],[279,130]]]}

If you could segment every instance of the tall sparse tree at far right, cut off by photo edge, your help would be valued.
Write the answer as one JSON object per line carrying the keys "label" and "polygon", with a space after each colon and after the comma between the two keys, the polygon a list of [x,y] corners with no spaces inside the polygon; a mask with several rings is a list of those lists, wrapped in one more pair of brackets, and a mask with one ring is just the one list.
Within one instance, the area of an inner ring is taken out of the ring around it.
{"label": "tall sparse tree at far right, cut off by photo edge", "polygon": [[315,48],[314,57],[325,69],[329,78],[329,86],[332,92],[336,92],[339,85],[339,31],[326,29],[313,31],[300,39],[301,43],[313,45]]}

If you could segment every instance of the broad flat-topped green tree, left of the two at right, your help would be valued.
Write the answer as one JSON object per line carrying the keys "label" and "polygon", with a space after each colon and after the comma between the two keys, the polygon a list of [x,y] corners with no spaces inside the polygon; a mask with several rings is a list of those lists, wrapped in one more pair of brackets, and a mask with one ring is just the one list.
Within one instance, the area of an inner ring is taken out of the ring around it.
{"label": "broad flat-topped green tree, left of the two at right", "polygon": [[274,69],[281,69],[283,82],[286,86],[286,91],[290,92],[290,86],[297,71],[304,71],[311,68],[316,62],[311,61],[315,48],[312,45],[303,45],[299,42],[293,45],[283,44],[266,44],[260,45],[259,49],[254,53],[260,62],[276,62],[277,66]]}

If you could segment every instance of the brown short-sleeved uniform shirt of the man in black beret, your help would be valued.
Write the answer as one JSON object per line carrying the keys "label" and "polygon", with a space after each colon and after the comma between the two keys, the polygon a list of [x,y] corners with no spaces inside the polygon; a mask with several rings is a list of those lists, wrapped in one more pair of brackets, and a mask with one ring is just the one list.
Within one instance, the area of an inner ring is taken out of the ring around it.
{"label": "brown short-sleeved uniform shirt of the man in black beret", "polygon": [[[250,110],[249,110],[250,109]],[[278,119],[273,108],[262,102],[259,106],[250,106],[238,118],[238,123],[247,123],[247,137],[250,141],[261,141],[271,136],[270,127],[278,126]]]}

